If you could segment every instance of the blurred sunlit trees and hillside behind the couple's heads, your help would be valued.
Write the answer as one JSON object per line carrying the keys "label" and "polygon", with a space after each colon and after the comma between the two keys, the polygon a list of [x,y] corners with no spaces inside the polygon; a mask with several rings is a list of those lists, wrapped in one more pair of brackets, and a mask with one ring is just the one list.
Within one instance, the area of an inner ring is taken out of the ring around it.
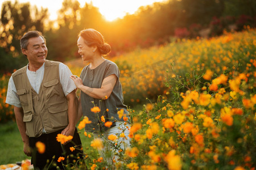
{"label": "blurred sunlit trees and hillside behind the couple's heads", "polygon": [[[101,2],[63,0],[61,5],[59,1],[48,1],[49,8],[57,11],[56,14],[50,14],[47,7],[35,6],[38,1],[3,1],[0,73],[13,73],[14,69],[27,64],[27,59],[20,53],[19,40],[24,33],[35,29],[46,36],[47,58],[65,62],[80,58],[76,42],[78,33],[84,28],[94,28],[104,35],[105,40],[112,46],[109,55],[111,58],[138,48],[164,45],[177,38],[218,36],[224,30],[241,31],[243,25],[253,28],[256,23],[254,0],[148,1],[144,2],[146,6],[138,7],[136,11],[127,12],[125,15],[122,13],[123,16],[115,13],[114,9],[121,8],[122,4],[127,9],[134,9],[141,3]],[[151,4],[147,5],[149,2]],[[106,11],[103,15],[101,8],[96,5],[101,5],[102,9],[105,7],[110,12]],[[50,17],[53,15],[56,15],[54,20]]]}

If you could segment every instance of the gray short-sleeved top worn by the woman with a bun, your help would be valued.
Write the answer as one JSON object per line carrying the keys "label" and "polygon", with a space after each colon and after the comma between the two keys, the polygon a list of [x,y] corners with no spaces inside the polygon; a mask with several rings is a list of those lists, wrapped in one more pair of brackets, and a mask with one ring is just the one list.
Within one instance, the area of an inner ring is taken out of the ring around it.
{"label": "gray short-sleeved top worn by the woman with a bun", "polygon": [[[127,107],[123,104],[122,85],[119,80],[120,72],[118,66],[108,59],[102,62],[95,69],[90,69],[89,66],[90,64],[85,66],[80,75],[84,86],[101,88],[102,81],[107,76],[114,74],[118,78],[112,93],[106,100],[94,99],[81,91],[82,113],[92,121],[91,124],[86,124],[85,131],[102,131],[108,129],[104,126],[104,122],[101,122],[102,115],[105,117],[105,121],[113,122],[112,126],[115,126],[116,120],[123,121],[123,118],[119,119],[117,114],[120,109],[124,110],[123,113],[126,114],[127,117],[129,116],[127,115]],[[90,111],[94,105],[101,109],[99,113],[93,113]],[[107,109],[108,112],[106,111]]]}

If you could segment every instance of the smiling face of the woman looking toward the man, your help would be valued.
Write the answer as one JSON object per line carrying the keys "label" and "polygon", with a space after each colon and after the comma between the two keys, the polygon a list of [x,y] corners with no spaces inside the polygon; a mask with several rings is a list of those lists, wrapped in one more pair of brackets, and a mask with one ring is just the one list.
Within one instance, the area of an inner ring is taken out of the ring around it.
{"label": "smiling face of the woman looking toward the man", "polygon": [[79,48],[78,53],[81,55],[83,61],[89,61],[93,58],[94,48],[85,44],[85,40],[80,36],[77,40],[77,46]]}

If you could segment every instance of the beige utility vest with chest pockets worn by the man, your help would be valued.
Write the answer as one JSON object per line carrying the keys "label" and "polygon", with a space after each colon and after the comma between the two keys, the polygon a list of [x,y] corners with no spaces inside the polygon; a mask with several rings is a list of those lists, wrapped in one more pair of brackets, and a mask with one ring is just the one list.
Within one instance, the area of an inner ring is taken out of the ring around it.
{"label": "beige utility vest with chest pockets worn by the man", "polygon": [[59,77],[59,62],[46,60],[39,94],[32,88],[27,77],[27,66],[13,73],[13,80],[23,108],[26,134],[39,137],[64,129],[68,125],[68,101]]}

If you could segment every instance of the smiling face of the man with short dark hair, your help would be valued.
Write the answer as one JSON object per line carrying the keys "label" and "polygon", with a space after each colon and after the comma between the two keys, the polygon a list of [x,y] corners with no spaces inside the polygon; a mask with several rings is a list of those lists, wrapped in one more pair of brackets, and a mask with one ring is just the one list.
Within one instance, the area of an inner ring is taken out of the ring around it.
{"label": "smiling face of the man with short dark hair", "polygon": [[32,37],[28,39],[27,49],[22,49],[22,53],[27,56],[31,65],[43,65],[47,57],[46,42],[42,37]]}

